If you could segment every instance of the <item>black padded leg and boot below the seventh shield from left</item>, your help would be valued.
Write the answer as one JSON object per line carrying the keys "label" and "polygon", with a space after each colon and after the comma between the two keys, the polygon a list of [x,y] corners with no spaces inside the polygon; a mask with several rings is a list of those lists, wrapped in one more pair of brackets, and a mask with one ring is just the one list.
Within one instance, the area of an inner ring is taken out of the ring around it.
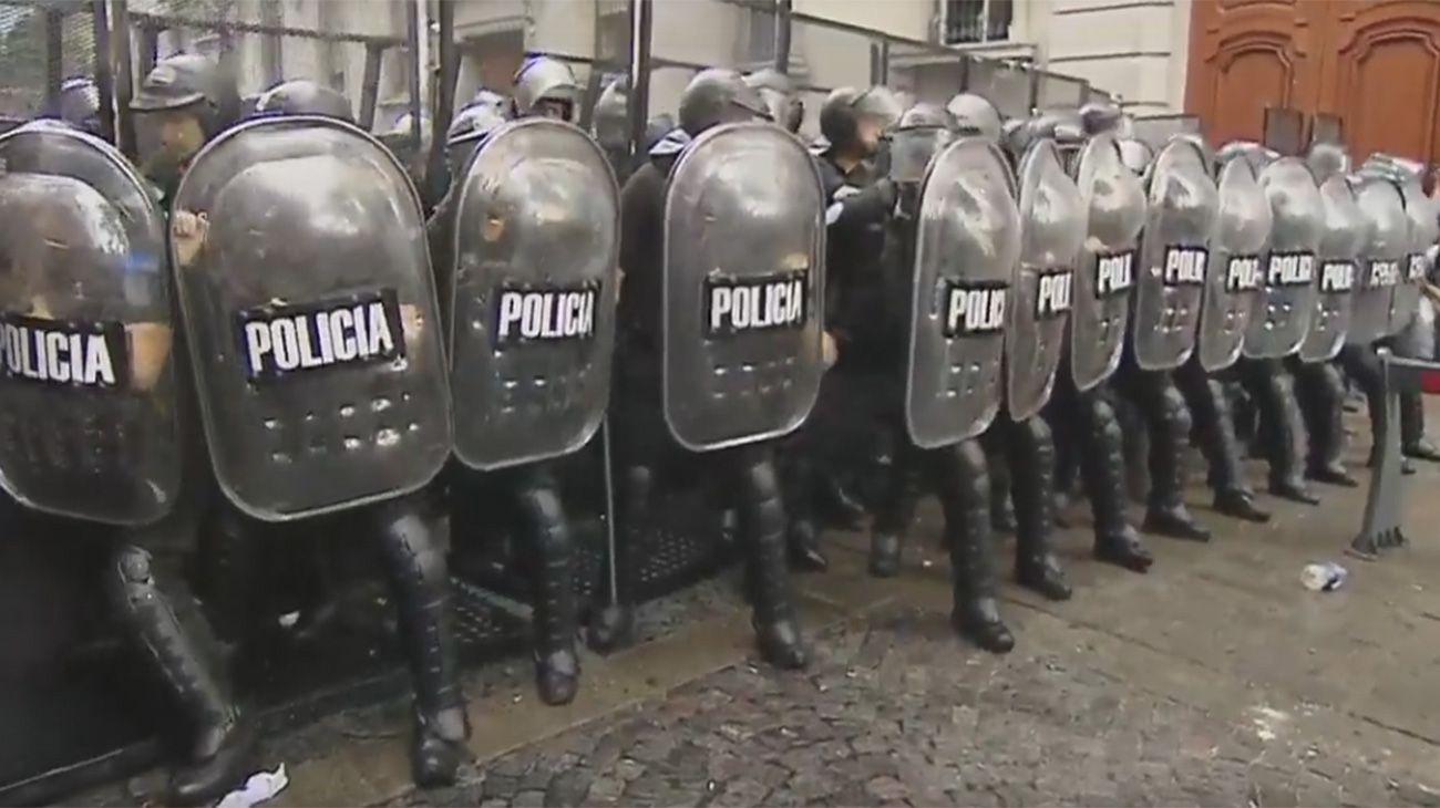
{"label": "black padded leg and boot below the seventh shield from left", "polygon": [[1094,519],[1094,558],[1106,564],[1145,572],[1155,559],[1125,515],[1125,449],[1120,423],[1100,391],[1080,398],[1084,428],[1080,444],[1080,473]]}

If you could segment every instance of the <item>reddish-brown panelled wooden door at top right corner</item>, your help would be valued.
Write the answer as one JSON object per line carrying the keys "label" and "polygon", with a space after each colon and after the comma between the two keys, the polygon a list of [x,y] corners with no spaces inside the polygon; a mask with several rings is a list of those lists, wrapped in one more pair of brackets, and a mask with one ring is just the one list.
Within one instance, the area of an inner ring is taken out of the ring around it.
{"label": "reddish-brown panelled wooden door at top right corner", "polygon": [[1189,45],[1185,108],[1212,142],[1289,106],[1339,115],[1356,160],[1440,160],[1434,0],[1194,0]]}

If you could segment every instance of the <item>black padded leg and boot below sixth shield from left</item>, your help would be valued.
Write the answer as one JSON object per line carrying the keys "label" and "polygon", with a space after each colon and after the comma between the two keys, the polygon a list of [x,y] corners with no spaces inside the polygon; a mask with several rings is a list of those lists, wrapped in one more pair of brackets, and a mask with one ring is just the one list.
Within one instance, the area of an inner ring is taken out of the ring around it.
{"label": "black padded leg and boot below sixth shield from left", "polygon": [[1014,457],[1011,486],[1015,500],[1015,582],[1051,601],[1070,600],[1070,584],[1060,561],[1050,552],[1054,528],[1056,451],[1050,426],[1035,416],[1007,424]]}

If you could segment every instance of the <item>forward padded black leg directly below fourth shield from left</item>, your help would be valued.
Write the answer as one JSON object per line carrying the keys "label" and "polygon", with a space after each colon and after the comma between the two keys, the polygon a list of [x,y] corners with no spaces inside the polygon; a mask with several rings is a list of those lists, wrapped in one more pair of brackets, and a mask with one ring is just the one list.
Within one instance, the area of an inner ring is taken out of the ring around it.
{"label": "forward padded black leg directly below fourth shield from left", "polygon": [[779,669],[802,669],[808,661],[789,569],[785,565],[785,506],[775,464],[762,447],[736,450],[733,486],[740,497],[740,533],[753,594],[756,646],[760,657]]}

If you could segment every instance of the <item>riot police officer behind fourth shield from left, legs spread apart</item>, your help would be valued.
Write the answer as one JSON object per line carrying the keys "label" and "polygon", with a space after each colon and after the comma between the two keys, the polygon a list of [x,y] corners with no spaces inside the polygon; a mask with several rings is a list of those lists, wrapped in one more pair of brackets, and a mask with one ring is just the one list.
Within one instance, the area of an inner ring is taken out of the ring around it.
{"label": "riot police officer behind fourth shield from left, legs spread apart", "polygon": [[[618,602],[606,604],[592,625],[603,646],[631,631],[638,532],[658,474],[684,460],[713,467],[708,480],[739,509],[762,656],[786,669],[806,661],[768,439],[798,427],[819,387],[822,206],[804,147],[783,129],[759,124],[768,118],[759,93],[739,73],[697,73],[681,95],[680,129],[651,150],[622,193],[624,331],[609,416],[621,469],[612,561]],[[716,161],[744,165],[752,150],[772,175],[716,174]],[[703,208],[696,204],[701,196]],[[755,197],[768,201],[755,208]],[[750,219],[752,210],[772,214]],[[775,306],[763,306],[768,313],[755,319],[747,313],[755,309],[734,308],[736,295],[759,295]],[[704,299],[707,316],[700,306],[680,303],[690,299]],[[785,374],[786,382],[762,382],[742,367],[765,378]],[[675,451],[675,444],[687,451]]]}

